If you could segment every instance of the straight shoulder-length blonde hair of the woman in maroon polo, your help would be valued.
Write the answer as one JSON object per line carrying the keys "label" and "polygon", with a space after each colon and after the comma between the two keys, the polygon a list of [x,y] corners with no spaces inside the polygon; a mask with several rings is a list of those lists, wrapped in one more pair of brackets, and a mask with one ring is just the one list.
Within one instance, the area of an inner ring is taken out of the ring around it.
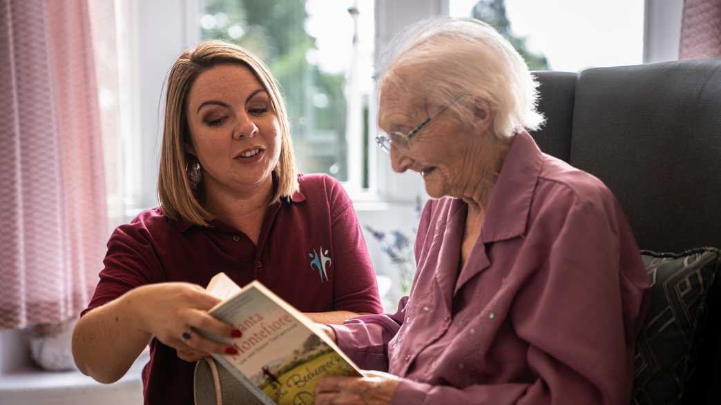
{"label": "straight shoulder-length blonde hair of the woman in maroon polo", "polygon": [[[200,205],[185,172],[190,163],[190,155],[185,152],[185,145],[190,143],[187,99],[195,79],[203,71],[222,64],[237,64],[249,68],[267,91],[270,105],[278,117],[281,134],[280,158],[273,169],[278,184],[270,204],[278,202],[281,197],[291,197],[293,192],[298,190],[298,170],[293,156],[288,112],[270,70],[259,58],[237,45],[218,40],[199,43],[195,48],[183,52],[168,74],[158,177],[158,199],[162,212],[174,220],[182,218],[198,226],[208,226],[207,221],[213,219],[213,215]],[[202,187],[201,184],[202,182],[198,187]]]}

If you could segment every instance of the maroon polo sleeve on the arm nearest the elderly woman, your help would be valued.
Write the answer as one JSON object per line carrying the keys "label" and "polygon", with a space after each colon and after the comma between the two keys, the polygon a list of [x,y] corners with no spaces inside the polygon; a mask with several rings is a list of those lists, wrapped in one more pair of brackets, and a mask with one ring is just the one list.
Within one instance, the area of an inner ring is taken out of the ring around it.
{"label": "maroon polo sleeve on the arm nearest the elderly woman", "polygon": [[330,190],[331,232],[335,244],[333,266],[333,308],[335,311],[381,313],[376,275],[366,240],[348,194],[327,177]]}

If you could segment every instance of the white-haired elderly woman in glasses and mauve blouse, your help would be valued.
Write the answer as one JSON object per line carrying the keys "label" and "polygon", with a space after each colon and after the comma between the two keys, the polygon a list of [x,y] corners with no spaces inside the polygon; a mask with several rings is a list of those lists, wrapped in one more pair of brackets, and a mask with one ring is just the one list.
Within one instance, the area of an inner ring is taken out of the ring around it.
{"label": "white-haired elderly woman in glasses and mauve blouse", "polygon": [[326,378],[316,404],[628,404],[648,281],[622,209],[528,135],[536,83],[503,37],[413,32],[381,76],[379,143],[433,197],[414,285],[393,315],[324,326],[387,373]]}

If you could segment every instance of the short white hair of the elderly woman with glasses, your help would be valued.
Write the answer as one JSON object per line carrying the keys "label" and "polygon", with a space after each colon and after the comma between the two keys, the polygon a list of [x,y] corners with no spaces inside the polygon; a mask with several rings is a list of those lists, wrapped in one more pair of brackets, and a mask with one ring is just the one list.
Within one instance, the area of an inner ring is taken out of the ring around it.
{"label": "short white hair of the elderly woman with glasses", "polygon": [[[394,89],[408,89],[396,75],[401,67],[417,68],[422,75],[420,90],[430,101],[448,104],[464,95],[484,99],[495,114],[496,135],[510,137],[544,122],[536,110],[538,82],[513,45],[485,22],[451,17],[417,22],[381,55],[376,74],[381,88],[395,84]],[[454,103],[449,110],[461,122],[470,123],[472,104]]]}

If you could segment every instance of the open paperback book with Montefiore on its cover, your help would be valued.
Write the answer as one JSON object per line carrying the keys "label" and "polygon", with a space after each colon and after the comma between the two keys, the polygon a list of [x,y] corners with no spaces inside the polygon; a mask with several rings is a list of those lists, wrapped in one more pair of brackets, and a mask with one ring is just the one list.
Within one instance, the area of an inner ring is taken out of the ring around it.
{"label": "open paperback book with Montefiore on its cover", "polygon": [[240,288],[221,272],[206,290],[223,300],[208,312],[235,326],[242,336],[199,332],[236,348],[236,355],[212,356],[262,403],[313,404],[315,386],[323,376],[362,375],[324,331],[261,282]]}

